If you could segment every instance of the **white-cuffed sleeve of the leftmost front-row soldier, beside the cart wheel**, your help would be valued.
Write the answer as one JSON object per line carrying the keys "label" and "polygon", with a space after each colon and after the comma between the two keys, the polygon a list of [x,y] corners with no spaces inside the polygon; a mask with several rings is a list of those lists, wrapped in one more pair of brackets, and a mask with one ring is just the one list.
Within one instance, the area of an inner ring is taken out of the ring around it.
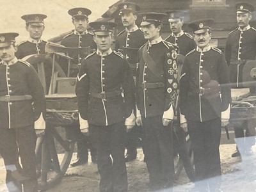
{"label": "white-cuffed sleeve of the leftmost front-row soldier, beside the cart wheel", "polygon": [[33,98],[33,108],[35,112],[35,129],[45,129],[46,102],[42,83],[35,68],[29,67],[27,78],[30,94]]}

